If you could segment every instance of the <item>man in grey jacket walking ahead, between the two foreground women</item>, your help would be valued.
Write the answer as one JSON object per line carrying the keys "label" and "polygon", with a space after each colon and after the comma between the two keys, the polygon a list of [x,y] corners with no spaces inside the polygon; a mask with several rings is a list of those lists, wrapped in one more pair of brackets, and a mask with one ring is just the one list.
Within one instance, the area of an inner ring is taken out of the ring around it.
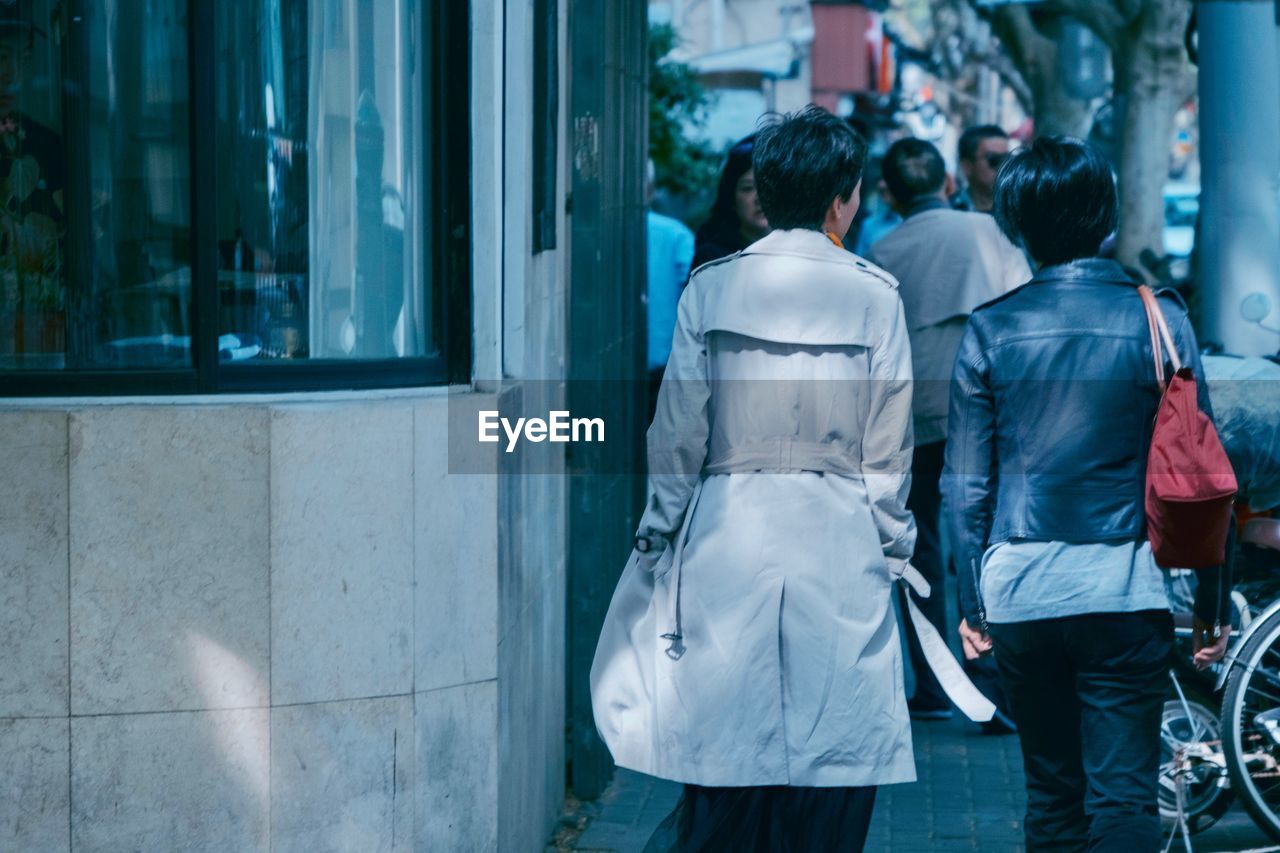
{"label": "man in grey jacket walking ahead, between the two foreground women", "polygon": [[[884,154],[881,169],[893,209],[904,218],[901,225],[872,246],[870,259],[900,283],[911,342],[915,456],[908,508],[915,514],[918,529],[911,562],[934,590],[916,603],[945,634],[946,571],[938,479],[946,447],[951,366],[969,314],[1029,280],[1032,272],[1027,257],[1001,233],[995,219],[951,209],[950,178],[933,145],[924,140],[899,140]],[[914,633],[908,631],[908,638],[916,674],[915,695],[909,702],[911,716],[950,717],[951,706]],[[991,660],[970,663],[969,670],[978,688],[1004,708]],[[988,731],[1011,730],[1000,716],[986,725]]]}

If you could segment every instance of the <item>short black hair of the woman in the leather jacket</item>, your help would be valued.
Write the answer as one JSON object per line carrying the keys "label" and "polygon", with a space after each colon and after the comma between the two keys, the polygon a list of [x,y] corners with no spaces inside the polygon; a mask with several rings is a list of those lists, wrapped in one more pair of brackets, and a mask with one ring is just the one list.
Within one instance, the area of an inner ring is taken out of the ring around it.
{"label": "short black hair of the woman in the leather jacket", "polygon": [[1037,264],[1093,257],[1116,228],[1116,183],[1106,159],[1079,140],[1039,138],[996,173],[996,222]]}

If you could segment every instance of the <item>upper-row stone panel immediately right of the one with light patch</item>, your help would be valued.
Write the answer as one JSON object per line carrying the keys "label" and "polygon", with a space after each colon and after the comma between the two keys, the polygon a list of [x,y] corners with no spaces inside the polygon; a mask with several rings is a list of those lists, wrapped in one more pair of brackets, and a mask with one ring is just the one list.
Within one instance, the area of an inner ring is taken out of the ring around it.
{"label": "upper-row stone panel immediately right of the one with light patch", "polygon": [[413,407],[271,419],[271,698],[413,689]]}

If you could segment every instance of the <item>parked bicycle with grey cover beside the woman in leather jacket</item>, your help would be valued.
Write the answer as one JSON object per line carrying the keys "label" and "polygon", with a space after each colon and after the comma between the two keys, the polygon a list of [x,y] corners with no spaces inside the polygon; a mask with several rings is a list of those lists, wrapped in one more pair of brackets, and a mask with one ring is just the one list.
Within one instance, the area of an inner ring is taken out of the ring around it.
{"label": "parked bicycle with grey cover beside the woman in leather jacket", "polygon": [[[1230,547],[1233,643],[1221,663],[1207,672],[1190,666],[1190,613],[1175,612],[1188,649],[1170,674],[1161,724],[1160,809],[1174,825],[1169,847],[1180,836],[1188,850],[1190,835],[1212,826],[1236,797],[1280,841],[1280,364],[1230,356],[1203,362],[1240,484],[1240,524]],[[1251,514],[1248,506],[1270,511]],[[1190,602],[1193,578],[1170,573],[1175,611]]]}

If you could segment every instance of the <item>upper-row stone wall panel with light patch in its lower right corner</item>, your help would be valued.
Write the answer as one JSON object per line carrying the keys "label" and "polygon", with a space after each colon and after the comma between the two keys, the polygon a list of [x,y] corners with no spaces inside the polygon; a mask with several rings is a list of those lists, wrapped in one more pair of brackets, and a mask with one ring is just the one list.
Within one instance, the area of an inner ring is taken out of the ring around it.
{"label": "upper-row stone wall panel with light patch in its lower right corner", "polygon": [[248,406],[72,414],[73,713],[268,703],[268,428]]}

